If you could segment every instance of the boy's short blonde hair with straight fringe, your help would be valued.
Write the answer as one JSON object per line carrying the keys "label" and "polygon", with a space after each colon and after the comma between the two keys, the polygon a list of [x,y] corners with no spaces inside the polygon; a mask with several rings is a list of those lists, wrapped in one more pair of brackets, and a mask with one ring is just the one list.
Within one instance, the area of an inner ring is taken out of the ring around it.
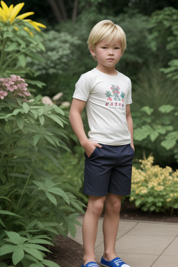
{"label": "boy's short blonde hair with straight fringe", "polygon": [[[88,49],[92,47],[95,49],[95,46],[98,42],[107,39],[108,42],[120,42],[122,54],[127,48],[126,35],[122,28],[118,24],[114,24],[109,19],[104,19],[101,22],[98,22],[90,31],[88,37]],[[95,59],[95,56],[93,56]]]}

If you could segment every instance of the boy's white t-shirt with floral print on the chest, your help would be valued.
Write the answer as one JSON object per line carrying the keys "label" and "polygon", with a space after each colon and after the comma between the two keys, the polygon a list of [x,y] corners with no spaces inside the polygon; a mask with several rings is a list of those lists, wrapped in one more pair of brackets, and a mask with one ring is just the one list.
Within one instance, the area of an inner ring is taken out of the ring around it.
{"label": "boy's white t-shirt with floral print on the chest", "polygon": [[127,145],[131,134],[126,105],[132,103],[131,80],[118,72],[111,76],[96,68],[82,74],[73,97],[86,102],[89,140],[104,145]]}

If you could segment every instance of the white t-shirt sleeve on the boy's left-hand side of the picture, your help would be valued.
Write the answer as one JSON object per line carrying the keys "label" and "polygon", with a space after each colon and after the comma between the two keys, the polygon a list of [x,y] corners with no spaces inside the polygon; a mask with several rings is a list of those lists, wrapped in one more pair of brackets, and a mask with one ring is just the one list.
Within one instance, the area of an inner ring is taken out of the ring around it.
{"label": "white t-shirt sleeve on the boy's left-hand side of the picture", "polygon": [[76,82],[73,98],[87,101],[90,95],[90,90],[90,81],[84,74],[82,74],[79,81]]}

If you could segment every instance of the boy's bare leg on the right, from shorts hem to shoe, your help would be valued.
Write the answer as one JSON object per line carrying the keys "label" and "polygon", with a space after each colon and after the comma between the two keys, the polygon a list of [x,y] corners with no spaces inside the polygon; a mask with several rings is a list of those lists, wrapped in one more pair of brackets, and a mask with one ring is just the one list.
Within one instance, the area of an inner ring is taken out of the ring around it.
{"label": "boy's bare leg on the right, from shorts hem to shoe", "polygon": [[105,213],[103,222],[104,254],[106,261],[113,260],[115,254],[115,241],[120,221],[120,208],[122,196],[108,193],[105,200]]}

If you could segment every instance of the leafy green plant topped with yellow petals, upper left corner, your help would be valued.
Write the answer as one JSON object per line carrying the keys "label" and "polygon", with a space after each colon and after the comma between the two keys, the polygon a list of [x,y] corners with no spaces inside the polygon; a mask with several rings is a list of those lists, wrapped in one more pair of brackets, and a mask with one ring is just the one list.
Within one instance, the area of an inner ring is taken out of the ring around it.
{"label": "leafy green plant topped with yellow petals, upper left corner", "polygon": [[[32,73],[33,69],[26,66],[26,58],[43,60],[38,56],[38,49],[44,50],[44,46],[36,35],[40,27],[46,28],[39,22],[24,19],[33,15],[33,12],[18,15],[24,3],[18,3],[15,7],[8,7],[1,1],[0,8],[0,76],[10,73]],[[18,15],[18,16],[17,16]]]}

